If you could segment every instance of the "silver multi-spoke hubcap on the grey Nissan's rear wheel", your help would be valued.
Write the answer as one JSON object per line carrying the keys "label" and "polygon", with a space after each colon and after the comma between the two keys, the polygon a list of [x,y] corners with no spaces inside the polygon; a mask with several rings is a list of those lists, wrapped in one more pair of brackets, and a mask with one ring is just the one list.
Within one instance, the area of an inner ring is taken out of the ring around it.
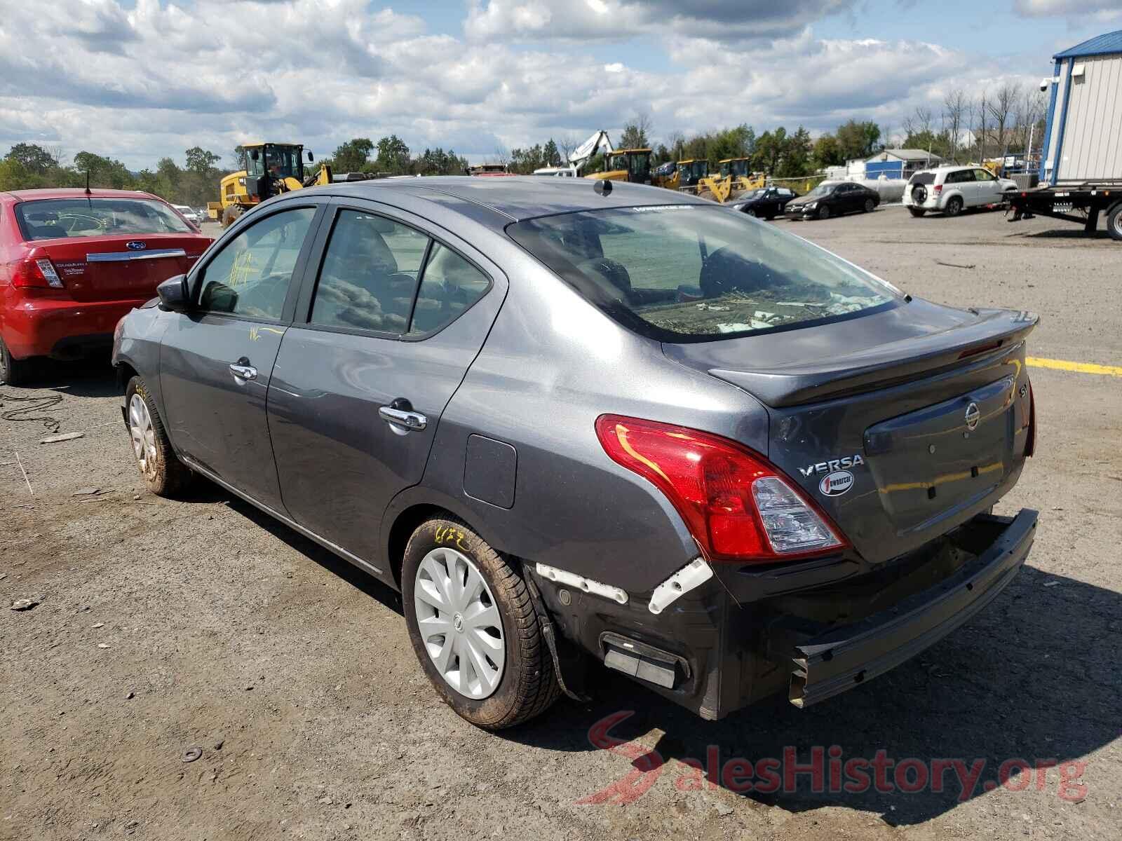
{"label": "silver multi-spoke hubcap on the grey Nissan's rear wheel", "polygon": [[413,604],[421,640],[444,683],[471,699],[498,688],[506,663],[503,621],[471,560],[434,548],[417,566]]}

